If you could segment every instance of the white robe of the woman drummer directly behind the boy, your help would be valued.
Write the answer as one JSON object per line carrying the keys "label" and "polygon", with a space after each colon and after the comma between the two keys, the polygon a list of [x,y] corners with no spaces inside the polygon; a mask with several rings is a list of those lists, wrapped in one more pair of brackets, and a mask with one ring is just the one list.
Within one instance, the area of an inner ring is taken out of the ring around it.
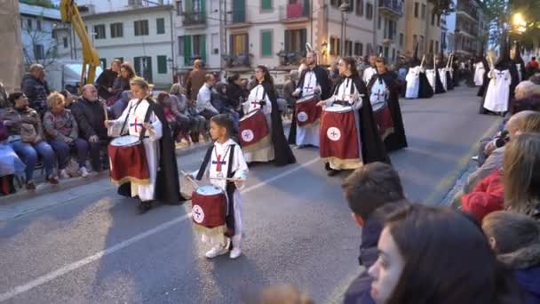
{"label": "white robe of the woman drummer directly behind the boy", "polygon": [[[256,87],[251,89],[248,100],[243,103],[244,113],[249,113],[251,111],[262,108],[263,114],[266,116],[266,124],[268,124],[268,130],[270,131],[270,136],[272,136],[272,102],[268,98],[268,94],[265,96],[266,105],[260,106],[258,101],[263,100],[263,95],[265,93],[265,88],[258,84]],[[274,160],[274,143],[270,140],[270,144],[265,148],[260,148],[257,151],[246,152],[244,154],[246,162],[270,162]]]}

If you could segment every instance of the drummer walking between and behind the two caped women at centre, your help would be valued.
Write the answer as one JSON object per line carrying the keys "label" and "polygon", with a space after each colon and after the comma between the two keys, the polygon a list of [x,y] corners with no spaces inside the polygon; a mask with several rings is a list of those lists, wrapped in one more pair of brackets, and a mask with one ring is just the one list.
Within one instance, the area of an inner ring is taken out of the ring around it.
{"label": "drummer walking between and behind the two caped women at centre", "polygon": [[[317,54],[313,50],[307,52],[306,64],[307,68],[300,75],[297,89],[292,95],[299,98],[308,98],[309,96],[319,98],[320,96],[321,100],[330,98],[331,87],[328,73],[325,68],[317,64]],[[314,108],[318,109],[315,106]],[[289,143],[297,144],[298,148],[306,146],[319,147],[319,127],[321,122],[317,120],[312,124],[300,126],[299,124],[303,123],[298,122],[300,119],[303,121],[308,119],[306,112],[297,111],[295,108],[292,124],[290,125]]]}

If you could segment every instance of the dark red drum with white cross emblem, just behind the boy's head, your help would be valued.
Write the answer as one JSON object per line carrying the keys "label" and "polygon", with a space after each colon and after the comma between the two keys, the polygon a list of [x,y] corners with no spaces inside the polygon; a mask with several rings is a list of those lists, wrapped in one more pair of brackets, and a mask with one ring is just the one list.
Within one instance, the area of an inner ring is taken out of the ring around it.
{"label": "dark red drum with white cross emblem, just behind the boy's head", "polygon": [[250,151],[270,144],[270,131],[262,110],[246,114],[238,124],[239,141],[242,150]]}

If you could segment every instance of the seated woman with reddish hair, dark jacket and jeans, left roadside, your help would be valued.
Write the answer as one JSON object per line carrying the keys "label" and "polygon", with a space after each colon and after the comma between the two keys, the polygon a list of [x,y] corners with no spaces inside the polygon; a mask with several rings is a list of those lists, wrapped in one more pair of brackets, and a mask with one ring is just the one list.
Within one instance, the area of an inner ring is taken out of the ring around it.
{"label": "seated woman with reddish hair, dark jacket and jeans, left roadside", "polygon": [[58,156],[58,169],[60,178],[69,179],[66,171],[69,152],[75,148],[77,164],[81,176],[88,176],[86,160],[88,159],[88,142],[79,138],[79,129],[75,116],[70,110],[64,108],[64,96],[59,92],[52,92],[47,98],[49,111],[44,115],[44,131],[49,144]]}

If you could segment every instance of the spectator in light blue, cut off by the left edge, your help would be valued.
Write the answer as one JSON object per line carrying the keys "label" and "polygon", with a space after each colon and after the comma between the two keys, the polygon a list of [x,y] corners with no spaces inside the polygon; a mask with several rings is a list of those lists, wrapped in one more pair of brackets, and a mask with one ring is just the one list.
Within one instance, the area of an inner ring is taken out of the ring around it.
{"label": "spectator in light blue, cut off by the left edge", "polygon": [[15,193],[13,178],[24,173],[25,165],[7,142],[7,127],[0,121],[0,194]]}

